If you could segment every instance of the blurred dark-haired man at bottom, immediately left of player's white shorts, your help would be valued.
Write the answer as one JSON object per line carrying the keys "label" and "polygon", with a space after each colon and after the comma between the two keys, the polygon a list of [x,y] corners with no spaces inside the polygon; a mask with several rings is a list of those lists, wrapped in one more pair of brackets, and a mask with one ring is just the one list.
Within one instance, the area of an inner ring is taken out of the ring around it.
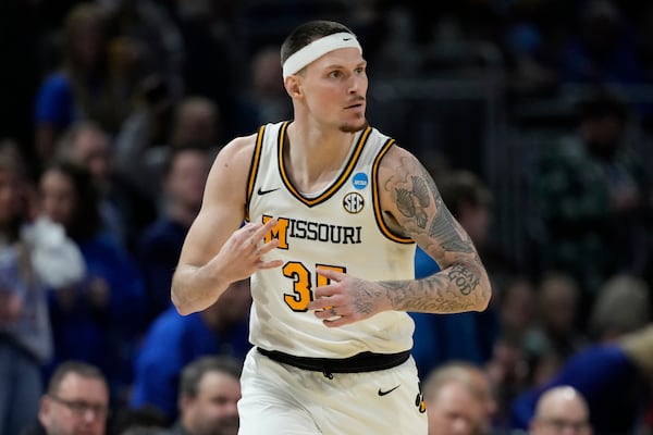
{"label": "blurred dark-haired man at bottom, immediately left of player's white shorts", "polygon": [[182,372],[180,418],[167,435],[236,435],[242,363],[230,357],[202,357]]}

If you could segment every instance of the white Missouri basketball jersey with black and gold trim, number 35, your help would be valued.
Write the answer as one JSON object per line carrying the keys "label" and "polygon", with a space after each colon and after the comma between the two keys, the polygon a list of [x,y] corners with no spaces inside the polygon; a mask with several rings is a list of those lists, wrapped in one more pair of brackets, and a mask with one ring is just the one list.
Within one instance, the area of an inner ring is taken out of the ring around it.
{"label": "white Missouri basketball jersey with black and gold trim, number 35", "polygon": [[384,225],[379,204],[379,163],[394,139],[371,127],[357,133],[340,175],[318,195],[306,196],[283,163],[287,125],[259,129],[247,185],[248,220],[279,221],[266,239],[278,238],[279,248],[266,260],[283,260],[281,268],[251,277],[251,343],[313,358],[410,349],[415,326],[405,312],[386,311],[329,328],[307,308],[313,288],[328,284],[318,266],[370,281],[414,278],[415,241]]}

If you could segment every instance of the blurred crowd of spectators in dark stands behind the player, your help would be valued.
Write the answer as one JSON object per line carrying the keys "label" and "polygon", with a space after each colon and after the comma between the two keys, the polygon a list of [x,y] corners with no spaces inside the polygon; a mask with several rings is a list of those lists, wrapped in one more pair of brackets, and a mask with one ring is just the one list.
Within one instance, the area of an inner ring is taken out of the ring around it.
{"label": "blurred crowd of spectators in dark stands behind the player", "polygon": [[[279,47],[318,17],[364,41],[370,89],[501,70],[496,91],[515,123],[526,107],[583,89],[547,113],[559,134],[521,169],[519,256],[501,243],[505,199],[489,174],[447,156],[457,148],[475,161],[476,148],[399,144],[432,173],[494,290],[482,313],[411,314],[424,400],[438,410],[430,435],[653,433],[653,174],[649,144],[629,140],[633,126],[653,125],[653,97],[642,97],[653,78],[653,3],[423,8],[0,2],[0,435],[67,434],[56,432],[67,424],[58,406],[89,427],[100,421],[96,434],[236,433],[248,282],[187,316],[172,308],[170,283],[221,146],[292,116]],[[418,250],[416,274],[436,270]]]}

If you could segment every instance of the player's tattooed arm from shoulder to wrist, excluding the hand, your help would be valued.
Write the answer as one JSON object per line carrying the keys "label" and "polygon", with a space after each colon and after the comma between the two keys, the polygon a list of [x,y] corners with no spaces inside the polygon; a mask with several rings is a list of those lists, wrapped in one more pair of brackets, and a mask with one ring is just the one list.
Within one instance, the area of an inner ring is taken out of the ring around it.
{"label": "player's tattooed arm from shoulder to wrist, excluding the hand", "polygon": [[392,309],[432,313],[484,310],[491,296],[485,269],[421,163],[394,147],[381,165],[380,190],[386,224],[415,239],[442,268],[422,279],[380,283]]}

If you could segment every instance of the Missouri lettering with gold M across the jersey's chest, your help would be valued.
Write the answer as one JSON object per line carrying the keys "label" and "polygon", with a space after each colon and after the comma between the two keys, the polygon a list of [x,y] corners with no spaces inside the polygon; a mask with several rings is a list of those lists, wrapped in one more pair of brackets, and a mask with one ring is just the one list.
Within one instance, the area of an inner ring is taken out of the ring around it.
{"label": "Missouri lettering with gold M across the jersey's chest", "polygon": [[[272,216],[263,215],[263,223]],[[274,229],[266,235],[266,243],[279,239],[279,248],[288,248],[288,238],[323,241],[328,244],[360,244],[361,226],[331,225],[321,222],[304,221],[289,217],[278,217]]]}

